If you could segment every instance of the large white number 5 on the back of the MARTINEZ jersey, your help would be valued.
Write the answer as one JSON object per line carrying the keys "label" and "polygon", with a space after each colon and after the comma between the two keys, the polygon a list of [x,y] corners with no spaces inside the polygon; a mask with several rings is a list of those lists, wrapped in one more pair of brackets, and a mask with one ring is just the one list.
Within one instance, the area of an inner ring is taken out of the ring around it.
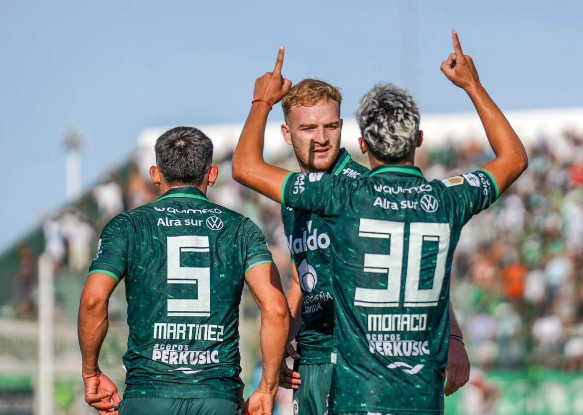
{"label": "large white number 5 on the back of the MARTINEZ jersey", "polygon": [[[210,316],[210,268],[180,265],[181,255],[187,252],[209,252],[208,236],[169,236],[166,238],[168,252],[168,284],[196,285],[198,296],[194,299],[168,298],[168,316]],[[207,256],[209,254],[206,254]],[[190,290],[188,290],[190,291]]]}

